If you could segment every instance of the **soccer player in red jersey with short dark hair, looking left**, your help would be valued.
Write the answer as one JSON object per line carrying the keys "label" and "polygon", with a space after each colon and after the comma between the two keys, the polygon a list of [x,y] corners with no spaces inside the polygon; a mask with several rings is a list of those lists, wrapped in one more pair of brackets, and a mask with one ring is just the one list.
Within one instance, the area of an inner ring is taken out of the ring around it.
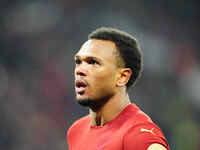
{"label": "soccer player in red jersey with short dark hair, looking left", "polygon": [[98,28],[76,53],[75,64],[76,98],[89,115],[69,128],[69,150],[170,149],[160,128],[128,96],[143,64],[134,37]]}

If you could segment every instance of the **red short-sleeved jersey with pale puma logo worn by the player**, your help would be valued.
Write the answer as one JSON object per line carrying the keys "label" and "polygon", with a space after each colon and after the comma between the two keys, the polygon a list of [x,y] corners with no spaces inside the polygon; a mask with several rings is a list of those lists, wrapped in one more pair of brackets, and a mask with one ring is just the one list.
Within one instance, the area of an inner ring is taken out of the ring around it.
{"label": "red short-sleeved jersey with pale puma logo worn by the player", "polygon": [[67,138],[69,150],[147,150],[153,143],[170,149],[160,128],[135,104],[104,126],[93,126],[85,116],[71,126]]}

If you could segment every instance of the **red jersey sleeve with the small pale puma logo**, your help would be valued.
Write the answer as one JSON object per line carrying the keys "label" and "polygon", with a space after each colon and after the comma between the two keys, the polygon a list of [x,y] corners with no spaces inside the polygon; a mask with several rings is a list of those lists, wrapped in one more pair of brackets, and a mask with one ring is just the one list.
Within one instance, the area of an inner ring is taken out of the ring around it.
{"label": "red jersey sleeve with the small pale puma logo", "polygon": [[153,144],[163,145],[170,150],[162,131],[153,124],[138,125],[128,130],[123,139],[124,150],[147,150]]}

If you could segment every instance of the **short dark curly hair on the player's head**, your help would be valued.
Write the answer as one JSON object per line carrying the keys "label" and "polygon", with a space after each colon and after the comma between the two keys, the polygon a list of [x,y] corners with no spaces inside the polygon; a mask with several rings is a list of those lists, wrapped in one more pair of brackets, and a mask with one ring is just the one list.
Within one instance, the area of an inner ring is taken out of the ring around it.
{"label": "short dark curly hair on the player's head", "polygon": [[136,83],[143,70],[142,51],[138,41],[130,34],[114,28],[101,27],[88,35],[88,39],[109,40],[115,43],[125,67],[132,70],[127,89]]}

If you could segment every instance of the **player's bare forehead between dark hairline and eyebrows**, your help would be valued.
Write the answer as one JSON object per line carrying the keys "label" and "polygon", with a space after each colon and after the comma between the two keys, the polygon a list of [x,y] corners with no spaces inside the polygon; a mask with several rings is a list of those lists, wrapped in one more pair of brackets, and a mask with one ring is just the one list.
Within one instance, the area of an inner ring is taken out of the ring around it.
{"label": "player's bare forehead between dark hairline and eyebrows", "polygon": [[76,56],[80,57],[97,57],[100,59],[113,60],[117,54],[115,43],[106,40],[88,40],[86,41],[81,49],[78,51]]}

